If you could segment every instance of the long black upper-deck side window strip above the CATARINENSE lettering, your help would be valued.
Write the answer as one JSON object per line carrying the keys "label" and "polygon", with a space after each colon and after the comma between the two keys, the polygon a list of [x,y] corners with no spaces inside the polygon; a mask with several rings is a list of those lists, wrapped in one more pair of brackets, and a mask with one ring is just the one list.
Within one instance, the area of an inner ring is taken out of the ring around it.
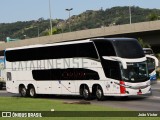
{"label": "long black upper-deck side window strip above the CATARINENSE lettering", "polygon": [[10,62],[73,57],[98,58],[91,42],[6,51],[6,59]]}

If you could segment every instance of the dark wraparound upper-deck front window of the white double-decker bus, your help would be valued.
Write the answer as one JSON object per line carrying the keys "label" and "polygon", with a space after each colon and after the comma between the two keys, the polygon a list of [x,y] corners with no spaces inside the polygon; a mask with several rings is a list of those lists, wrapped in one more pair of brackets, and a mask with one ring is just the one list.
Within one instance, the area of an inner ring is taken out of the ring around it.
{"label": "dark wraparound upper-deck front window of the white double-decker bus", "polygon": [[142,47],[135,39],[97,39],[94,42],[100,57],[117,56],[127,59],[144,57]]}

